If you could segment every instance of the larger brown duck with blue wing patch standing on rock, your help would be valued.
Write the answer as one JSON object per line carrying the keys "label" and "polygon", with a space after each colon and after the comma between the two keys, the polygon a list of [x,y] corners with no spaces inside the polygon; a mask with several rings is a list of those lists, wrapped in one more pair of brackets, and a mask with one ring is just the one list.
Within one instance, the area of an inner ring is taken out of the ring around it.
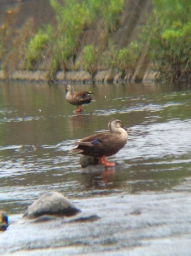
{"label": "larger brown duck with blue wing patch standing on rock", "polygon": [[72,153],[99,158],[99,163],[104,166],[115,166],[115,163],[106,161],[105,157],[115,155],[127,143],[127,128],[121,120],[112,118],[108,123],[109,131],[90,135],[75,142],[77,147]]}

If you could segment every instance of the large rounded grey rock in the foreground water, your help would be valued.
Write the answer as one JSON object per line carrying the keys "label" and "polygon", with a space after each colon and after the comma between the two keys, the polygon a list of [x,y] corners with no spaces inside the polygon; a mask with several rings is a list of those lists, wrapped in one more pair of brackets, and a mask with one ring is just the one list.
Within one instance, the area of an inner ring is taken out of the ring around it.
{"label": "large rounded grey rock in the foreground water", "polygon": [[42,215],[71,216],[81,212],[73,203],[58,192],[48,192],[28,207],[23,218],[34,219]]}

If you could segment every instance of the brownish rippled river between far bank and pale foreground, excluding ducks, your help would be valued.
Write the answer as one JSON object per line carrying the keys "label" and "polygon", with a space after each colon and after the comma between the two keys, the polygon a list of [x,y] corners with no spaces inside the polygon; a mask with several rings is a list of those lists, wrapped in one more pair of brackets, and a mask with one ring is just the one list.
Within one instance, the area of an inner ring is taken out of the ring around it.
{"label": "brownish rippled river between far bank and pale foreground, excluding ducks", "polygon": [[[81,114],[75,114],[75,106],[65,100],[64,85],[0,82],[1,209],[8,215],[23,213],[35,199],[52,190],[76,202],[123,194],[142,195],[149,202],[160,193],[190,193],[188,84],[74,87],[91,90],[96,99],[84,106]],[[103,168],[87,174],[81,170],[79,156],[69,150],[75,140],[108,129],[113,117],[129,128],[128,143],[108,158],[116,163],[111,172]]]}

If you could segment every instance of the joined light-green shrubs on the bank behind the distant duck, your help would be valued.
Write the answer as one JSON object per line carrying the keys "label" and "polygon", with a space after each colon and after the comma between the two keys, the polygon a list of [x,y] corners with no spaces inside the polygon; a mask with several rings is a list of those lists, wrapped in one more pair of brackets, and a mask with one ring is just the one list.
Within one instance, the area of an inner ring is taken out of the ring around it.
{"label": "joined light-green shrubs on the bank behind the distant duck", "polygon": [[64,4],[50,0],[50,4],[55,11],[56,28],[47,25],[31,38],[26,50],[27,69],[35,70],[40,62],[48,59],[45,66],[49,70],[49,82],[58,70],[83,68],[94,77],[99,69],[100,46],[85,45],[76,60],[81,48],[80,36],[95,20],[98,29],[104,26],[108,31],[114,30],[123,10],[123,0],[65,0]]}

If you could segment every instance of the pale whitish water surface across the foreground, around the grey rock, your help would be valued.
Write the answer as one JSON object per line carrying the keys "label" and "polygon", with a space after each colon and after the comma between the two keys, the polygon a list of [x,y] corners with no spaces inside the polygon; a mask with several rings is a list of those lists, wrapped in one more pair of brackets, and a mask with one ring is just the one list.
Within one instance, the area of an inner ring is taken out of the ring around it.
{"label": "pale whitish water surface across the foreground, around the grey rock", "polygon": [[[180,188],[181,189],[181,188]],[[97,221],[31,223],[10,215],[1,255],[190,255],[189,192],[117,194],[74,200]]]}

